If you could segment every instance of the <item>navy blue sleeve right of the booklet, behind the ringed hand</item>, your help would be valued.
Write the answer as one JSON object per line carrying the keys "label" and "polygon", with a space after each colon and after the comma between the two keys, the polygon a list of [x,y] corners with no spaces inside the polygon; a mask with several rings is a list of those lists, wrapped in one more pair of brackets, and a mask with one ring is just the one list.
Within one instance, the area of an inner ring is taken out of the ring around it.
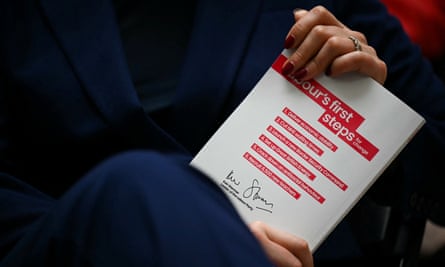
{"label": "navy blue sleeve right of the booklet, behind the ringed hand", "polygon": [[[388,67],[385,87],[426,119],[399,157],[411,208],[445,224],[445,87],[430,62],[377,0],[336,1],[334,14],[364,33]],[[378,104],[376,104],[378,108]],[[397,120],[397,114],[393,114]]]}

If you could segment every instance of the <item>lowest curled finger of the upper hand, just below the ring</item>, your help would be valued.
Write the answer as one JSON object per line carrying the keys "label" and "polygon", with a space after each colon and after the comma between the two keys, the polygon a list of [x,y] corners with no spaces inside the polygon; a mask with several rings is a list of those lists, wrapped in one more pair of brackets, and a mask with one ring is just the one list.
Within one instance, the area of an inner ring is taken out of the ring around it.
{"label": "lowest curled finger of the upper hand, just below the ring", "polygon": [[335,77],[347,72],[362,73],[383,85],[387,76],[387,66],[378,57],[357,51],[337,57],[331,64],[329,75]]}

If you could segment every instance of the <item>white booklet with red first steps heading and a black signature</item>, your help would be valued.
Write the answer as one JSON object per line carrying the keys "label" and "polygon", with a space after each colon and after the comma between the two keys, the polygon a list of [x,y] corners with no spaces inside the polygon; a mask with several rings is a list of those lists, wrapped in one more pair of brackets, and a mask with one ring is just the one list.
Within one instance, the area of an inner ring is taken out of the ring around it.
{"label": "white booklet with red first steps heading and a black signature", "polygon": [[371,78],[298,81],[284,50],[190,163],[260,220],[321,244],[424,124]]}

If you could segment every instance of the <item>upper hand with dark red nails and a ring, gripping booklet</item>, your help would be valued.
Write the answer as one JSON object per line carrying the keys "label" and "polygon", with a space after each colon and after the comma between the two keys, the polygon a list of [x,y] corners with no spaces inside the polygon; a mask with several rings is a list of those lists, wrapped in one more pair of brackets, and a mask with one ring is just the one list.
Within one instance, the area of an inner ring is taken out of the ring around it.
{"label": "upper hand with dark red nails and a ring, gripping booklet", "polygon": [[322,72],[337,76],[357,71],[385,82],[386,64],[362,33],[343,25],[323,6],[296,10],[294,17],[284,45],[294,52],[283,64],[284,75],[309,80]]}

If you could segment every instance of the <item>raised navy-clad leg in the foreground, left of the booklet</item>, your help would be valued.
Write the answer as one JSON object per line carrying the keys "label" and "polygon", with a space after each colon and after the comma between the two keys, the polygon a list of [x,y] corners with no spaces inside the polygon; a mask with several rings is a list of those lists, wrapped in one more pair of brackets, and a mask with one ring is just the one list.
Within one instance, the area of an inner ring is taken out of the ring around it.
{"label": "raised navy-clad leg in the foreground, left of the booklet", "polygon": [[189,160],[133,151],[104,161],[0,266],[268,266],[227,198]]}

